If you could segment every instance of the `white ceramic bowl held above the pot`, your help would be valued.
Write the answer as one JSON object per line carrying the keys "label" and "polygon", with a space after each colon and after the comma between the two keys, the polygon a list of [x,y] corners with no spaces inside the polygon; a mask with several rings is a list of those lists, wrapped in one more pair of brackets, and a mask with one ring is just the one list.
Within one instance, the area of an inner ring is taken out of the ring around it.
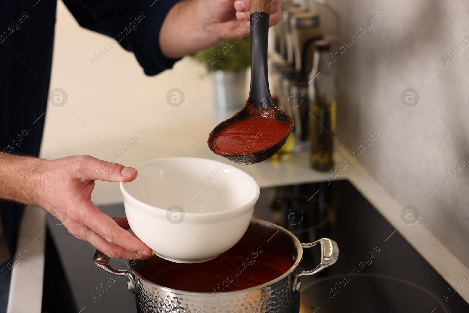
{"label": "white ceramic bowl held above the pot", "polygon": [[227,163],[150,160],[120,183],[134,234],[163,259],[198,263],[229,250],[246,232],[259,198],[256,181]]}

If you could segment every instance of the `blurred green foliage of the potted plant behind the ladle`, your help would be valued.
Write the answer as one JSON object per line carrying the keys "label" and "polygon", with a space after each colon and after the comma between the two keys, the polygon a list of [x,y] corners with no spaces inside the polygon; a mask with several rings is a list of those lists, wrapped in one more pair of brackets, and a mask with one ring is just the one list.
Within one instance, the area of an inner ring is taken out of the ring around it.
{"label": "blurred green foliage of the potted plant behind the ladle", "polygon": [[234,38],[199,51],[192,57],[205,65],[209,72],[243,70],[250,66],[250,37]]}

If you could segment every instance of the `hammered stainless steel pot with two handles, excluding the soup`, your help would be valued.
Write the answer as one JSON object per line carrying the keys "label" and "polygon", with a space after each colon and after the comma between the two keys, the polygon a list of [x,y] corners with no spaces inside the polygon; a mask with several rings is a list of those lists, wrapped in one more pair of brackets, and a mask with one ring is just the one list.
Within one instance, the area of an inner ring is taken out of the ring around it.
{"label": "hammered stainless steel pot with two handles, excluding the soup", "polygon": [[[129,278],[127,286],[135,293],[139,313],[293,313],[300,310],[299,278],[322,271],[334,264],[339,256],[339,248],[331,239],[322,238],[309,244],[301,244],[287,229],[256,219],[251,220],[240,243],[249,243],[253,247],[259,245],[275,248],[279,253],[291,257],[293,266],[285,274],[256,287],[210,293],[174,290],[148,281],[140,272],[144,267],[156,262],[156,258],[150,262],[130,261],[131,272],[111,267],[108,263],[109,257],[100,251],[96,251],[94,262],[111,274]],[[321,263],[313,270],[300,271],[297,267],[303,257],[303,248],[311,248],[318,244],[321,246]]]}

